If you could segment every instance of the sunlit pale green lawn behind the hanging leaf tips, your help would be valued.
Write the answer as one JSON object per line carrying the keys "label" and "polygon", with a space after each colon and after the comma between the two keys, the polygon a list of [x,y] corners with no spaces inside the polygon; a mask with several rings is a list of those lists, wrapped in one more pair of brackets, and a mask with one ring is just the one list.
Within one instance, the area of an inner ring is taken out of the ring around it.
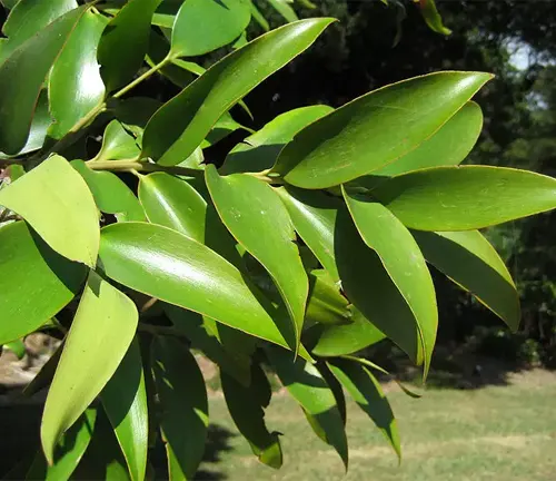
{"label": "sunlit pale green lawn behind the hanging leaf tips", "polygon": [[211,399],[211,420],[231,431],[218,462],[201,470],[235,480],[373,481],[552,481],[556,479],[556,376],[534,372],[509,386],[476,391],[429,390],[420,400],[394,389],[388,394],[398,419],[403,455],[396,457],[357,405],[348,405],[350,465],[309,429],[296,403],[275,395],[268,426],[284,433],[285,464],[274,471],[258,463],[237,434],[221,395]]}

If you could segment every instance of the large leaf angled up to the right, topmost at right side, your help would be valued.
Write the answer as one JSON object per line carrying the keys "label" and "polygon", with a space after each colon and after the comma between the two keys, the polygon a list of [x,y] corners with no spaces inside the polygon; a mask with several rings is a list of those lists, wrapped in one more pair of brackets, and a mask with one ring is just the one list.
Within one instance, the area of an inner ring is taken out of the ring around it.
{"label": "large leaf angled up to the right, topmost at right side", "polygon": [[427,140],[490,78],[437,72],[371,91],[301,130],[272,170],[311,189],[369,174]]}

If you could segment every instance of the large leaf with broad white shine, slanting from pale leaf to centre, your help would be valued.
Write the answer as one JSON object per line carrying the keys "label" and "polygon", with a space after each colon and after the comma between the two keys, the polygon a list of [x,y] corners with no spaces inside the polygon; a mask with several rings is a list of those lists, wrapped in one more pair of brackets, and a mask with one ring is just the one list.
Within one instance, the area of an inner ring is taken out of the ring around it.
{"label": "large leaf with broad white shine, slanting from pale leaf to centre", "polygon": [[100,259],[109,277],[136,291],[282,346],[292,341],[289,320],[262,307],[236,267],[175,230],[141,223],[105,227]]}

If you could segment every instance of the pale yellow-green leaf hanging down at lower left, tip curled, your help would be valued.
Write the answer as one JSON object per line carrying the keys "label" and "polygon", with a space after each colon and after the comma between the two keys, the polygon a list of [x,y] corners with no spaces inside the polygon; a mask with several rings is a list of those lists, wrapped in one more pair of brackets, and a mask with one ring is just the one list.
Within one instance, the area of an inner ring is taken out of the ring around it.
{"label": "pale yellow-green leaf hanging down at lower left, tip curled", "polygon": [[85,412],[118,369],[133,338],[137,322],[135,304],[91,271],[42,415],[41,441],[49,463],[60,435]]}

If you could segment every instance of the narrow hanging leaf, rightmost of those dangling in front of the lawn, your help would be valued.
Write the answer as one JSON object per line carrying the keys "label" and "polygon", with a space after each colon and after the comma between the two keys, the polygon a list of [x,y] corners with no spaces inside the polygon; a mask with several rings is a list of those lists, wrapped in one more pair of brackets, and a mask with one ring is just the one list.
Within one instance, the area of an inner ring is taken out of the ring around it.
{"label": "narrow hanging leaf, rightmost of those dangling in front of the lawn", "polygon": [[336,360],[328,366],[354,401],[383,432],[401,461],[398,425],[377,379],[368,369],[353,362]]}

